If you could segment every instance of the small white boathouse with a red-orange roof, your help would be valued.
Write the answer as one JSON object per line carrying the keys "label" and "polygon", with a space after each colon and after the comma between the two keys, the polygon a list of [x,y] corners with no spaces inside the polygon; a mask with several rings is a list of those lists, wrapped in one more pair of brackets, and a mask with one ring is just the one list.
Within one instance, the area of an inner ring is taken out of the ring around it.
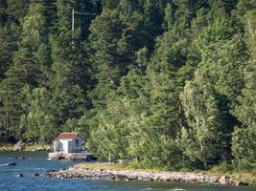
{"label": "small white boathouse with a red-orange roof", "polygon": [[54,152],[80,153],[83,139],[75,132],[63,132],[54,141]]}

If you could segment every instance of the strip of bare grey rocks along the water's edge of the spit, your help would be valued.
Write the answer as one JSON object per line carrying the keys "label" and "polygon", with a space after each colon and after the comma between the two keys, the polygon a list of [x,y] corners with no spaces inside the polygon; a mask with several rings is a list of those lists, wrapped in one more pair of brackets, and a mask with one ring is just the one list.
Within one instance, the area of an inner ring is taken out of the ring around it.
{"label": "strip of bare grey rocks along the water's edge of the spit", "polygon": [[217,177],[210,174],[193,172],[146,172],[133,170],[104,170],[70,167],[46,172],[46,177],[60,179],[103,179],[103,180],[127,180],[127,181],[166,181],[206,184],[233,184],[242,185],[243,182],[235,182],[230,177]]}

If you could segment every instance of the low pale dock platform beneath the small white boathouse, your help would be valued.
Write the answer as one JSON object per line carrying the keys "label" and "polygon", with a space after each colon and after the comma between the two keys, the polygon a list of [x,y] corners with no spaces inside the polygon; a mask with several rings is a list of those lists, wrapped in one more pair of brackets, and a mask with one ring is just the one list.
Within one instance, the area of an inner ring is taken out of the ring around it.
{"label": "low pale dock platform beneath the small white boathouse", "polygon": [[92,153],[82,152],[82,153],[62,153],[62,152],[54,152],[48,153],[48,159],[72,159],[72,160],[84,160],[91,161],[96,158],[93,157]]}

